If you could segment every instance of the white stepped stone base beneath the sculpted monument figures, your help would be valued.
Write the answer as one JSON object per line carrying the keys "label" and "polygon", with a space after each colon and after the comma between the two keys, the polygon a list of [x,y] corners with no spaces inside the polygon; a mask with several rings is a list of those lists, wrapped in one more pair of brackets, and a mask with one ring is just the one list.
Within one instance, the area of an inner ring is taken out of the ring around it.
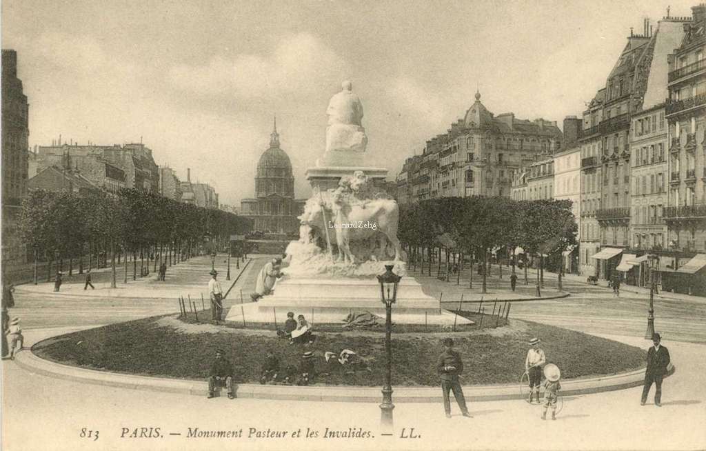
{"label": "white stepped stone base beneath the sculpted monument figures", "polygon": [[[283,324],[287,311],[304,315],[310,323],[343,324],[349,313],[369,311],[385,318],[385,304],[380,299],[380,284],[373,278],[292,278],[275,284],[274,293],[255,303],[246,303],[242,311],[234,305],[226,320],[241,323]],[[244,315],[244,317],[243,317]],[[457,325],[472,324],[440,308],[438,299],[424,294],[414,279],[402,279],[393,306],[393,323]]]}

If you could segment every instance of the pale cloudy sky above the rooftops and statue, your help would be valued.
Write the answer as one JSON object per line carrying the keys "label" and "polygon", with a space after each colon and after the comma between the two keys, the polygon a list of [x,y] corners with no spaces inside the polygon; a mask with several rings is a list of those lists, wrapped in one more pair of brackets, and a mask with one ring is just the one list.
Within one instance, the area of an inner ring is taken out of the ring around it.
{"label": "pale cloudy sky above the rooftops and statue", "polygon": [[697,3],[3,0],[2,47],[18,51],[30,145],[142,137],[157,164],[182,179],[191,167],[239,206],[273,114],[297,197],[309,196],[304,172],[342,80],[363,102],[370,164],[394,178],[476,86],[495,114],[580,115],[630,27]]}

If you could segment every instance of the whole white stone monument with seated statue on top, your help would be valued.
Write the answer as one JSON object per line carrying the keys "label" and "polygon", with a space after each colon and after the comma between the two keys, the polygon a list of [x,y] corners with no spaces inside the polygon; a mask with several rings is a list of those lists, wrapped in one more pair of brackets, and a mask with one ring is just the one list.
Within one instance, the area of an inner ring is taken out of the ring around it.
{"label": "whole white stone monument with seated statue on top", "polygon": [[[365,165],[363,104],[351,82],[341,88],[326,109],[323,157],[306,171],[312,195],[299,216],[299,239],[287,246],[285,275],[272,294],[231,308],[227,320],[242,322],[244,315],[245,323],[272,323],[277,314],[277,323],[284,323],[287,311],[314,324],[342,324],[349,313],[363,311],[384,318],[376,276],[385,265],[406,275],[406,255],[397,239],[400,209],[380,188],[388,169]],[[412,277],[402,277],[393,311],[398,324],[454,323],[454,315]],[[460,316],[456,322],[472,323]]]}

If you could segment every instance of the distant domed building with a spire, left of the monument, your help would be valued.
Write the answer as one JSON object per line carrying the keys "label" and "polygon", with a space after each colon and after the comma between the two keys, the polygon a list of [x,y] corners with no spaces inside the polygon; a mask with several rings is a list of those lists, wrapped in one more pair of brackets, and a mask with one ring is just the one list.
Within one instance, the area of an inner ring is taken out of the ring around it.
{"label": "distant domed building with a spire, left of the monument", "polygon": [[269,236],[298,234],[304,200],[294,200],[292,162],[280,148],[277,119],[270,134],[270,147],[258,161],[255,198],[241,200],[241,214],[253,221],[253,231]]}

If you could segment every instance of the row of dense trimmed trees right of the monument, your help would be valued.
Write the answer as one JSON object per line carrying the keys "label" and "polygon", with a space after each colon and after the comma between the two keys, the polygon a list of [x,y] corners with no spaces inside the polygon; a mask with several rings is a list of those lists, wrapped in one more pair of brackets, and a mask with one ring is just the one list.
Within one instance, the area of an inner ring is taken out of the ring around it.
{"label": "row of dense trimmed trees right of the monument", "polygon": [[[400,208],[399,236],[412,265],[431,261],[433,250],[463,260],[472,255],[479,261],[483,292],[489,273],[489,254],[509,254],[522,247],[539,261],[537,277],[544,267],[544,256],[559,254],[576,246],[578,227],[570,200],[512,200],[503,197],[472,196],[438,198]],[[426,258],[425,258],[426,254]],[[513,273],[515,258],[510,260]],[[441,265],[441,258],[439,259]],[[472,274],[469,284],[472,284]],[[561,284],[561,271],[559,274]],[[525,265],[525,279],[527,265]]]}

